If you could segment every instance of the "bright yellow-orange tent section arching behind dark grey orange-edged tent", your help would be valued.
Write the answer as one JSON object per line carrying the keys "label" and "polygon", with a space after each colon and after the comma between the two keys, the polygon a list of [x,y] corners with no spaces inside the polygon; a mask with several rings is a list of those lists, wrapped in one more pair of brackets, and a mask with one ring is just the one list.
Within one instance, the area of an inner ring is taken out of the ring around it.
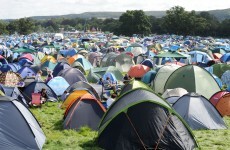
{"label": "bright yellow-orange tent section arching behind dark grey orange-edged tent", "polygon": [[88,93],[88,91],[86,90],[73,91],[72,93],[68,95],[66,100],[63,102],[63,104],[61,105],[61,108],[68,108],[69,105],[71,105],[75,100],[77,100],[79,97],[81,97],[82,95],[86,93]]}

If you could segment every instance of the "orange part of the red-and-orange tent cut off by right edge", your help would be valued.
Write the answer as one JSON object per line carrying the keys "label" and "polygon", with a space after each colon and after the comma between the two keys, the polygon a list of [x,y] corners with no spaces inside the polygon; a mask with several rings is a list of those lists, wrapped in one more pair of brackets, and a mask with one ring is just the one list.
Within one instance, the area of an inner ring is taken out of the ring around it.
{"label": "orange part of the red-and-orange tent cut off by right edge", "polygon": [[222,116],[230,116],[230,93],[225,94],[219,99],[216,109]]}

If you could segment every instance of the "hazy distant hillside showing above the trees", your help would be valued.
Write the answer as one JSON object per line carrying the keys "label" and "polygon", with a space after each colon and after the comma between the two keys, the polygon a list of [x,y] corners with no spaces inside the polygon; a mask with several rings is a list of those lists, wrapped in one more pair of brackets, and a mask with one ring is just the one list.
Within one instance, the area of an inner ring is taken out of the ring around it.
{"label": "hazy distant hillside showing above the trees", "polygon": [[[210,10],[210,14],[216,16],[219,20],[230,19],[230,8],[222,10]],[[118,19],[121,14],[124,12],[85,12],[81,14],[69,14],[69,15],[60,15],[60,16],[34,16],[31,17],[35,20],[44,20],[52,18],[115,18]],[[147,15],[152,15],[157,18],[165,16],[166,11],[146,11]],[[199,12],[198,12],[199,13]]]}

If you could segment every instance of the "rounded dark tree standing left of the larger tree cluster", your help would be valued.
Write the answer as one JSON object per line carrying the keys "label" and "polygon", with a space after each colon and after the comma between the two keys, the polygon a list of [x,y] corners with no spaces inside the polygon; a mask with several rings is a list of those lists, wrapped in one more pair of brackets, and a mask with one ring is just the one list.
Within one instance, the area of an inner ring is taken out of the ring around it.
{"label": "rounded dark tree standing left of the larger tree cluster", "polygon": [[143,10],[128,10],[120,16],[119,21],[121,23],[119,31],[124,35],[148,35],[151,33],[149,17]]}

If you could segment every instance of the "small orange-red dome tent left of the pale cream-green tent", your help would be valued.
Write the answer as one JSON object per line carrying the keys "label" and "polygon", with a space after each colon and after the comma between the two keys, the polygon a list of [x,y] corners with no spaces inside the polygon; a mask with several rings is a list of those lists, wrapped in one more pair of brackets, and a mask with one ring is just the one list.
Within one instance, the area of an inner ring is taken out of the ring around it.
{"label": "small orange-red dome tent left of the pale cream-green tent", "polygon": [[137,64],[132,66],[129,71],[128,71],[128,75],[130,77],[134,77],[134,78],[141,78],[142,76],[144,76],[148,71],[150,70],[150,68],[148,66],[145,65],[141,65],[141,64]]}

